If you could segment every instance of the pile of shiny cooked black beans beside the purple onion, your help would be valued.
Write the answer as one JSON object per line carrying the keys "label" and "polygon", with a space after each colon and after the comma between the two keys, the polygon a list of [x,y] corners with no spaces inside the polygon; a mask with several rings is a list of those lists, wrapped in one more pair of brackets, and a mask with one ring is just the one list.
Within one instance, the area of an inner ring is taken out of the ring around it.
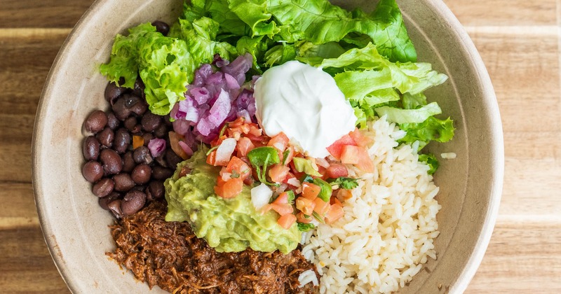
{"label": "pile of shiny cooked black beans beside the purple onion", "polygon": [[[182,159],[170,148],[169,116],[148,110],[140,78],[134,89],[109,83],[104,96],[110,109],[93,111],[84,121],[84,131],[91,135],[83,141],[82,174],[93,184],[100,206],[121,218],[149,201],[162,200],[163,181]],[[142,137],[143,146],[133,149],[133,136]],[[147,147],[154,138],[166,141],[165,151],[156,158]]]}

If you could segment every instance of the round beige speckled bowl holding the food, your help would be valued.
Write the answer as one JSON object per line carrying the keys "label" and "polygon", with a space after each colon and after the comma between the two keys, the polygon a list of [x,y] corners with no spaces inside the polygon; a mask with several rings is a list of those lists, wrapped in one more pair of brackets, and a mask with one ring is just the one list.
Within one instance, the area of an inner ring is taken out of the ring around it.
{"label": "round beige speckled bowl holding the food", "polygon": [[[374,8],[375,1],[336,1],[346,8]],[[447,74],[428,92],[457,131],[447,144],[430,144],[441,160],[435,176],[440,236],[438,260],[419,272],[402,293],[461,293],[489,243],[503,180],[503,137],[496,97],[471,39],[444,3],[398,1],[419,61]],[[33,184],[41,228],[53,260],[74,293],[142,293],[136,281],[104,253],[114,248],[113,219],[97,205],[81,174],[82,123],[94,109],[106,109],[107,80],[97,66],[107,62],[113,38],[128,27],[154,20],[171,22],[181,0],[100,0],[90,7],[62,46],[43,90],[33,139]],[[156,287],[152,293],[159,293]]]}

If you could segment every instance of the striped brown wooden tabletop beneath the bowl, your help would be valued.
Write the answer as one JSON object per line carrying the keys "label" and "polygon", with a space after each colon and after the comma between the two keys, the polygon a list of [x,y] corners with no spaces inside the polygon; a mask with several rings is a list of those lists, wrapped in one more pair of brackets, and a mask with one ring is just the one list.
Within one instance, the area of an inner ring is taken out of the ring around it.
{"label": "striped brown wooden tabletop beneath the bowl", "polygon": [[[67,293],[34,205],[31,139],[50,65],[93,0],[0,0],[0,292]],[[446,0],[503,121],[499,219],[468,293],[561,293],[561,1]]]}

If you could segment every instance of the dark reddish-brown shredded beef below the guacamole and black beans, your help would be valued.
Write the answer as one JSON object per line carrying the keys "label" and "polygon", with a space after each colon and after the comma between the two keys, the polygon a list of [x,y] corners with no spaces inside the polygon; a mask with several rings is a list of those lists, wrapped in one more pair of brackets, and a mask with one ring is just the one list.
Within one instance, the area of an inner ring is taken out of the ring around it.
{"label": "dark reddish-brown shredded beef below the guacamole and black beans", "polygon": [[[251,249],[219,253],[198,239],[189,223],[166,222],[167,208],[152,202],[113,226],[116,250],[107,255],[140,281],[172,293],[316,293],[300,273],[315,267],[299,248],[288,254]],[[316,276],[318,273],[316,272]]]}

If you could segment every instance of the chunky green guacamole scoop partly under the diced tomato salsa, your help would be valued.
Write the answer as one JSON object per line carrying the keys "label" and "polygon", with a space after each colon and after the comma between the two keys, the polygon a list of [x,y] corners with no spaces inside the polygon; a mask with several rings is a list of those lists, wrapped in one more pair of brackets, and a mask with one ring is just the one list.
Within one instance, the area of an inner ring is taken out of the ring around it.
{"label": "chunky green guacamole scoop partly under the diced tomato salsa", "polygon": [[201,148],[181,162],[165,181],[165,221],[189,222],[195,235],[219,252],[244,251],[248,247],[265,252],[294,250],[301,238],[297,225],[285,230],[278,225],[276,212],[262,215],[256,211],[251,204],[250,186],[244,186],[242,193],[231,199],[215,194],[220,167],[206,163],[206,151]]}

